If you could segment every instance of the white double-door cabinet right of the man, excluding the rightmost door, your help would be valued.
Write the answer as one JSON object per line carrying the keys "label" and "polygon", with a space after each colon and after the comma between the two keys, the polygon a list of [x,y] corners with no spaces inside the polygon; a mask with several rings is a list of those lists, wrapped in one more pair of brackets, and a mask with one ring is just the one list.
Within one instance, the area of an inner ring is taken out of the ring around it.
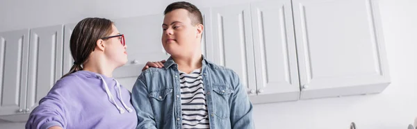
{"label": "white double-door cabinet right of the man, excluding the rightmost door", "polygon": [[252,103],[300,96],[291,1],[213,8],[213,55],[236,71]]}

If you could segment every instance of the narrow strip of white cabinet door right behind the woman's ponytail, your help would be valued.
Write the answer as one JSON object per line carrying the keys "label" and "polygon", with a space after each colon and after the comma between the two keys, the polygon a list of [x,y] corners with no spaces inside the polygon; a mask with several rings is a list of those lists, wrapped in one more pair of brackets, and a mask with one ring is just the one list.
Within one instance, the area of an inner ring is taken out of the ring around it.
{"label": "narrow strip of white cabinet door right behind the woman's ponytail", "polygon": [[74,64],[74,59],[71,55],[71,49],[70,49],[70,39],[72,30],[74,30],[74,27],[76,24],[65,24],[64,26],[64,57],[63,57],[63,75],[67,74],[72,65]]}

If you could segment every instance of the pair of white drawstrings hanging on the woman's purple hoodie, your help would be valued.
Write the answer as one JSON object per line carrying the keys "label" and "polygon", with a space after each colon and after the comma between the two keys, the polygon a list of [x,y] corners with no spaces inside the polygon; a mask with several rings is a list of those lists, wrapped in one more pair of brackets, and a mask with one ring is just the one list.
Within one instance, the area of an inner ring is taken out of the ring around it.
{"label": "pair of white drawstrings hanging on the woman's purple hoodie", "polygon": [[[123,114],[124,113],[123,108],[122,107],[119,107],[119,105],[117,105],[117,103],[115,101],[115,98],[113,97],[113,94],[111,94],[110,89],[108,89],[108,85],[107,85],[106,81],[104,80],[104,78],[102,76],[100,76],[100,75],[97,75],[97,77],[101,78],[101,81],[103,81],[103,83],[104,83],[104,89],[106,89],[106,93],[107,93],[107,96],[108,96],[108,99],[110,100],[110,102],[113,105],[116,106],[116,108],[117,108],[117,110],[119,110],[120,114]],[[117,82],[117,80],[116,80],[116,84],[117,84],[117,88],[119,89],[119,92],[120,92],[120,94],[119,94],[119,96],[120,96],[119,100],[122,102],[122,105],[124,106],[124,108],[126,108],[126,110],[128,112],[132,112],[133,110],[130,107],[128,107],[126,104],[124,104],[124,102],[122,101],[122,91],[120,90],[120,84],[119,84],[119,82]]]}

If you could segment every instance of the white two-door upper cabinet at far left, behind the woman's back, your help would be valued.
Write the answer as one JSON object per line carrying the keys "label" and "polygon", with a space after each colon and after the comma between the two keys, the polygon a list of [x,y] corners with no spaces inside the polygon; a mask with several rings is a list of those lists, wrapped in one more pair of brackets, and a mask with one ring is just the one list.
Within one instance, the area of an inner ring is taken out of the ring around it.
{"label": "white two-door upper cabinet at far left, behind the woman's back", "polygon": [[62,76],[62,59],[62,25],[0,33],[0,118],[26,121]]}

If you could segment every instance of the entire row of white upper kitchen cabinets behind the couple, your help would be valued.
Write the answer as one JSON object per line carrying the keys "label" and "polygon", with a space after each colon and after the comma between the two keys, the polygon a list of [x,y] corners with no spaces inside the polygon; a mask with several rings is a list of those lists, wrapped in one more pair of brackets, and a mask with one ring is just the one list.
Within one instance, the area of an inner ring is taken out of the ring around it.
{"label": "entire row of white upper kitchen cabinets behind the couple", "polygon": [[[202,53],[236,71],[252,103],[379,93],[390,76],[378,2],[274,0],[202,8]],[[161,43],[163,15],[113,21],[125,35],[129,60],[113,77],[131,89],[146,62],[170,57]],[[70,71],[75,25],[0,33],[0,117],[30,113]]]}

